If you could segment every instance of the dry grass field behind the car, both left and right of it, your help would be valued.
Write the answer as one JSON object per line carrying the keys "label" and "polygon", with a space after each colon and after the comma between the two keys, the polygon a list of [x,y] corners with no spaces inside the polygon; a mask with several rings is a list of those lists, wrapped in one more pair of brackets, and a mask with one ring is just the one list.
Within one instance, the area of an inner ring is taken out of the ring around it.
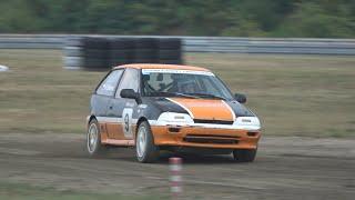
{"label": "dry grass field behind the car, both left and right of it", "polygon": [[[189,53],[262,119],[267,136],[354,137],[355,58]],[[90,93],[104,72],[62,69],[54,50],[0,50],[0,132],[85,130]]]}

